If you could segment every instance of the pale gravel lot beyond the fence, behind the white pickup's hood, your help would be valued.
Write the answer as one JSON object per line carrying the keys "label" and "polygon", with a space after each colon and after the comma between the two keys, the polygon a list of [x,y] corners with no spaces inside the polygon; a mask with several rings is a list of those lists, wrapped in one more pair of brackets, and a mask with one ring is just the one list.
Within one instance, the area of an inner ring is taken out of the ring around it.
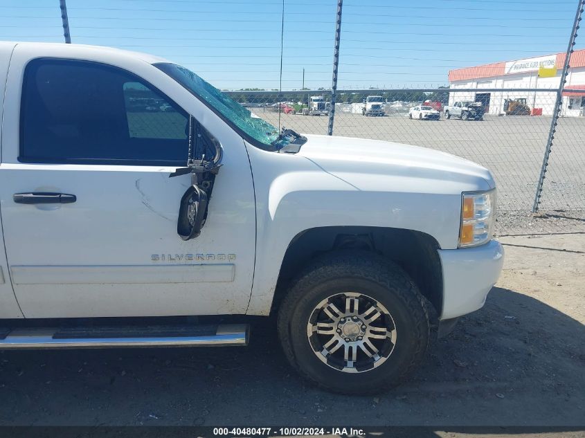
{"label": "pale gravel lot beyond the fence, behind the white pickup's hood", "polygon": [[[256,111],[256,110],[255,110]],[[278,113],[258,111],[278,126]],[[325,134],[327,117],[282,114],[281,126]],[[430,147],[480,163],[494,172],[501,210],[529,212],[541,170],[550,117],[486,116],[482,122],[458,119],[408,120],[405,116],[366,117],[336,112],[334,134]],[[562,118],[543,191],[545,211],[585,210],[585,118]]]}

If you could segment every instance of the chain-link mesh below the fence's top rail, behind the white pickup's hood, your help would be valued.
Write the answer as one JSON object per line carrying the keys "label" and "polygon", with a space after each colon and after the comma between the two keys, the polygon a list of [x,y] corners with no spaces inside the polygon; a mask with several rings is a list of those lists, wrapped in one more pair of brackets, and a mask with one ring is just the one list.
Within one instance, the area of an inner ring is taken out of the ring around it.
{"label": "chain-link mesh below the fence's top rail, behind the white pickup's hood", "polygon": [[[330,92],[228,93],[274,126],[327,134]],[[487,167],[498,185],[501,234],[585,230],[585,118],[567,114],[568,100],[541,208],[531,213],[556,96],[528,88],[339,91],[333,135],[428,147]]]}

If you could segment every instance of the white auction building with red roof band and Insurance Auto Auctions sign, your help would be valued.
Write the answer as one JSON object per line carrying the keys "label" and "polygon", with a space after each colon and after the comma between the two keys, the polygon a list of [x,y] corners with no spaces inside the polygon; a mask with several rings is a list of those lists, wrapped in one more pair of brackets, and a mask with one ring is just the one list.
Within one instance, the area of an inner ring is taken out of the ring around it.
{"label": "white auction building with red roof band and Insurance Auto Auctions sign", "polygon": [[[550,116],[555,107],[557,93],[554,89],[559,87],[565,56],[565,53],[557,53],[451,70],[449,71],[451,90],[474,89],[474,91],[449,93],[449,104],[452,105],[457,101],[482,102],[486,107],[486,113],[501,115],[506,113],[510,102],[514,100],[521,102],[525,107],[528,106],[532,115]],[[556,69],[556,75],[552,69]],[[494,92],[489,89],[503,91]],[[514,91],[507,91],[509,89],[514,89]],[[522,91],[522,89],[527,89],[527,91]],[[551,89],[552,91],[536,92],[528,91],[528,89]],[[575,51],[571,55],[565,89],[573,91],[563,93],[561,116],[585,116],[585,49]],[[575,91],[580,89],[583,91]]]}

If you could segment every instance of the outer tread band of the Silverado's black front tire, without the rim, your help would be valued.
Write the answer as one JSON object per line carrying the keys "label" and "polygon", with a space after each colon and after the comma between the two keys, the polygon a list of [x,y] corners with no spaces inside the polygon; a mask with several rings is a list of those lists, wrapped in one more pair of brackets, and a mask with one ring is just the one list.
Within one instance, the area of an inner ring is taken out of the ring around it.
{"label": "outer tread band of the Silverado's black front tire, without the rim", "polygon": [[291,363],[301,376],[318,387],[323,387],[340,394],[351,394],[350,392],[327,387],[303,371],[303,368],[296,361],[292,349],[287,320],[287,313],[291,313],[296,302],[302,298],[305,291],[310,289],[312,285],[330,280],[332,277],[348,275],[372,280],[388,289],[393,289],[404,300],[408,310],[411,311],[417,322],[415,327],[417,331],[415,336],[417,343],[412,360],[408,366],[404,368],[397,378],[389,378],[384,382],[377,383],[375,387],[360,392],[360,394],[376,394],[402,383],[408,374],[411,374],[420,364],[429,346],[429,312],[426,309],[424,299],[408,274],[389,259],[374,253],[354,250],[340,250],[327,253],[323,257],[316,259],[291,282],[289,291],[280,304],[280,308],[278,309],[278,336],[280,337],[282,349],[289,363]]}

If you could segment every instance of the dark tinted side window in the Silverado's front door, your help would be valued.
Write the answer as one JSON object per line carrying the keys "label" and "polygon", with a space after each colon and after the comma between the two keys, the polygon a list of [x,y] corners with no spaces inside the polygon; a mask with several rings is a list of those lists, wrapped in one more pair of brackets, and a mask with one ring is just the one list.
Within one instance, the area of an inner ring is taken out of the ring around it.
{"label": "dark tinted side window in the Silverado's front door", "polygon": [[184,165],[188,116],[114,66],[37,59],[25,69],[19,161]]}

